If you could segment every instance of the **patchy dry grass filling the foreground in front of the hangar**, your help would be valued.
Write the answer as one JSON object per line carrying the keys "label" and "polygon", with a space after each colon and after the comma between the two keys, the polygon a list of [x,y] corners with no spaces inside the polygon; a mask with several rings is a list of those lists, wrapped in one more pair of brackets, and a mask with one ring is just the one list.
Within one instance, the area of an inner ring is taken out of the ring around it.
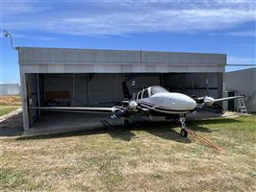
{"label": "patchy dry grass filling the foreground in front of the hangar", "polygon": [[3,191],[256,191],[255,116],[177,125],[1,138]]}

